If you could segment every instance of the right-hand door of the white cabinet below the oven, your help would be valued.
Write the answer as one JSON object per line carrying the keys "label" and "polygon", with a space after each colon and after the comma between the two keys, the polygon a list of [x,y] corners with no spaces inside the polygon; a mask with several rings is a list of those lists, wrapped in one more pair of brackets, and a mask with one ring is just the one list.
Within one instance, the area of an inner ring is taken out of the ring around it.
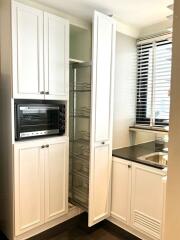
{"label": "right-hand door of the white cabinet below the oven", "polygon": [[68,142],[51,140],[45,148],[45,221],[68,211]]}

